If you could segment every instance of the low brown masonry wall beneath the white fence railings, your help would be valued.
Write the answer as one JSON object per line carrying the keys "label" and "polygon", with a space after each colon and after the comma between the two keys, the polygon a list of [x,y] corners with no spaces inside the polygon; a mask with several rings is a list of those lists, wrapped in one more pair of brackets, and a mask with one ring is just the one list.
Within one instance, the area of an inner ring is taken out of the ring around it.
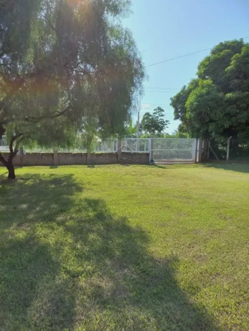
{"label": "low brown masonry wall beneath the white fence railings", "polygon": [[[8,153],[2,153],[7,159]],[[15,166],[45,166],[73,164],[148,164],[148,153],[27,153],[22,162],[17,155],[13,159]]]}

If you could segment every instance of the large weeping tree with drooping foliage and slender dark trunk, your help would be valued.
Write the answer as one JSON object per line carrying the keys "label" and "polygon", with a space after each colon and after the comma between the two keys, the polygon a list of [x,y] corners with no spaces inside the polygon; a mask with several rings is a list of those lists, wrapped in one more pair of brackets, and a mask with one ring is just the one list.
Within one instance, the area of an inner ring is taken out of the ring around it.
{"label": "large weeping tree with drooping foliage and slender dark trunk", "polygon": [[[94,122],[116,133],[141,93],[144,69],[117,18],[129,0],[1,0],[0,138],[12,160],[21,139],[60,143]],[[13,24],[14,22],[14,24]]]}

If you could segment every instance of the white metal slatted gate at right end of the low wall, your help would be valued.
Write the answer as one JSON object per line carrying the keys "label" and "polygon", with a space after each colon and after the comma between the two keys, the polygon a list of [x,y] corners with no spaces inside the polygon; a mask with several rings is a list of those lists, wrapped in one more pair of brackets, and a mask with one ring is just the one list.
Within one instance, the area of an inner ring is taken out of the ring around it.
{"label": "white metal slatted gate at right end of the low wall", "polygon": [[195,162],[196,143],[197,139],[151,138],[149,159],[163,163]]}

